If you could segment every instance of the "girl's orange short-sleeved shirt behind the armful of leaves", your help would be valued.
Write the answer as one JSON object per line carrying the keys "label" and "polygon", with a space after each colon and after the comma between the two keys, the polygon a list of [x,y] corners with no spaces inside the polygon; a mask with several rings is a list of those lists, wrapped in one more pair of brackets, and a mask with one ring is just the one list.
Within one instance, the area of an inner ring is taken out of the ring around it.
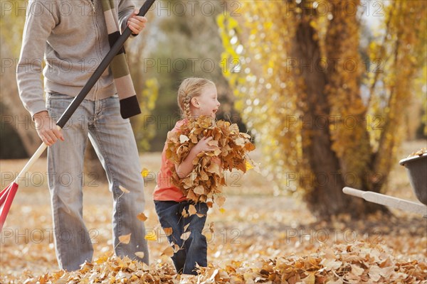
{"label": "girl's orange short-sleeved shirt behind the armful of leaves", "polygon": [[[177,132],[184,125],[186,119],[177,121],[172,132]],[[157,186],[154,188],[153,199],[158,201],[181,202],[187,200],[181,190],[172,183],[172,167],[174,163],[166,158],[167,143],[164,143],[162,152],[162,165],[157,175]]]}

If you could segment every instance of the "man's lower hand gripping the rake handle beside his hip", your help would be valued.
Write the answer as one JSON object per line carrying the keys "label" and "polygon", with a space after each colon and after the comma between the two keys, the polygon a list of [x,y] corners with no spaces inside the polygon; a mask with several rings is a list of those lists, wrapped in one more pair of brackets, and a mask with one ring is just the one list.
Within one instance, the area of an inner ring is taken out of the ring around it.
{"label": "man's lower hand gripping the rake handle beside his hip", "polygon": [[49,116],[48,111],[40,111],[34,114],[33,117],[38,136],[47,146],[52,146],[58,139],[65,140],[55,121]]}

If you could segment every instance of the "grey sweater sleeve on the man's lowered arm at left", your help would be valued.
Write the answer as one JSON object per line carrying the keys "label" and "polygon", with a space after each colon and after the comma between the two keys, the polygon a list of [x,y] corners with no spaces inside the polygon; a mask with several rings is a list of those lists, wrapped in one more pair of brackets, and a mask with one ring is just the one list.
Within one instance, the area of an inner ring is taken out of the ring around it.
{"label": "grey sweater sleeve on the man's lowered arm at left", "polygon": [[46,110],[41,72],[46,41],[56,26],[53,9],[52,5],[46,6],[43,0],[31,0],[27,7],[16,82],[23,106],[31,117]]}

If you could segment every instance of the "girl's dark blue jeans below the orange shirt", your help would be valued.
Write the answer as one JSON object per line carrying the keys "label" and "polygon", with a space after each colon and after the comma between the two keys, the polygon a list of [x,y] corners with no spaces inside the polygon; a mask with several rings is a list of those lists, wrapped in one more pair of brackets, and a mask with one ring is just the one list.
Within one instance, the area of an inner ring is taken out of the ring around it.
{"label": "girl's dark blue jeans below the orange shirt", "polygon": [[[206,267],[207,249],[206,237],[201,234],[206,222],[206,214],[208,206],[206,203],[191,203],[189,201],[174,202],[174,201],[154,201],[159,222],[162,228],[172,228],[172,234],[167,237],[170,243],[177,244],[181,249],[174,253],[172,261],[177,273],[193,274],[196,275],[196,263],[199,266]],[[197,213],[203,216],[199,217],[197,214],[189,217],[183,217],[183,209],[189,212],[190,204],[194,204]],[[184,231],[184,227],[186,231]],[[184,232],[190,232],[190,236],[186,241],[181,239]]]}

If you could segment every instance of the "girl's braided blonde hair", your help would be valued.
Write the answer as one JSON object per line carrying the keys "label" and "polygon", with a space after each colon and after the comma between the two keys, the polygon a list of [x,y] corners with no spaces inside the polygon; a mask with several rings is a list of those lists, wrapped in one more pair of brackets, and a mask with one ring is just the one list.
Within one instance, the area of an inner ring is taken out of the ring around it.
{"label": "girl's braided blonde hair", "polygon": [[204,78],[186,78],[181,82],[178,89],[178,105],[182,114],[187,118],[191,118],[190,101],[194,97],[199,97],[201,91],[208,86],[214,86],[214,82]]}

